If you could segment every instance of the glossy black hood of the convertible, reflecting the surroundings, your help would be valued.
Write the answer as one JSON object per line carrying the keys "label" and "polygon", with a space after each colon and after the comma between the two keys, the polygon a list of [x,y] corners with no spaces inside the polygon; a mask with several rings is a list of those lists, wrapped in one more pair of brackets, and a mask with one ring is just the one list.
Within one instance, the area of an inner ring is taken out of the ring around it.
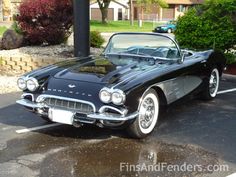
{"label": "glossy black hood of the convertible, reflecting the surroundings", "polygon": [[86,62],[75,62],[54,75],[55,79],[74,80],[92,83],[115,84],[124,79],[138,77],[156,65],[140,64],[131,59],[90,58]]}

